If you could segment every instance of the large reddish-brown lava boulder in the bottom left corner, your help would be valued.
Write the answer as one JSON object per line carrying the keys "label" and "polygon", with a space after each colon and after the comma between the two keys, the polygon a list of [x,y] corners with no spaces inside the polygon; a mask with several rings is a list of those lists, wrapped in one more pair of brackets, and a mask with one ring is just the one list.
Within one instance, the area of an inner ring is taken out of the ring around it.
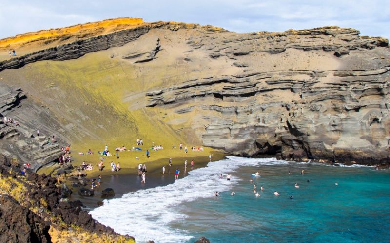
{"label": "large reddish-brown lava boulder in the bottom left corner", "polygon": [[50,225],[5,194],[0,194],[0,242],[51,242]]}

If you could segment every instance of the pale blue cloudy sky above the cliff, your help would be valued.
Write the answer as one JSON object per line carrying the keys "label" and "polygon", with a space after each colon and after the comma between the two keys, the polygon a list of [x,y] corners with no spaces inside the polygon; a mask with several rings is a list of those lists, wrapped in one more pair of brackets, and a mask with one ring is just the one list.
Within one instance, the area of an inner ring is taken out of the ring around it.
{"label": "pale blue cloudy sky above the cliff", "polygon": [[337,25],[390,38],[388,0],[0,0],[0,38],[115,17],[211,24],[235,32]]}

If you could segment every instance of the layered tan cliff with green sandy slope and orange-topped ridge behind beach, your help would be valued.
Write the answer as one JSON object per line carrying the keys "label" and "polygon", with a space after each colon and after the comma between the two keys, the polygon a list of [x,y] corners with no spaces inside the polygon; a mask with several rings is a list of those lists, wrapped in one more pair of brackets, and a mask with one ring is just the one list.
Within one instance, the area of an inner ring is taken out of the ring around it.
{"label": "layered tan cliff with green sandy slope and orange-topped ridge behind beach", "polygon": [[106,21],[78,26],[85,36],[0,41],[23,52],[0,56],[0,113],[20,122],[1,125],[6,154],[50,163],[58,146],[29,136],[41,127],[85,149],[141,136],[241,156],[390,161],[387,39],[334,26],[238,34]]}

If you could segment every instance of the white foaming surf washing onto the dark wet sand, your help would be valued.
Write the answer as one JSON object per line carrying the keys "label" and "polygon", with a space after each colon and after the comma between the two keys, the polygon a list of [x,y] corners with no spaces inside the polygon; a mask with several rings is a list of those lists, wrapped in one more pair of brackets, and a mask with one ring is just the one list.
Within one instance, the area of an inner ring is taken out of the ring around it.
{"label": "white foaming surf washing onto the dark wet sand", "polygon": [[[100,223],[112,227],[117,233],[129,234],[137,242],[184,242],[193,238],[188,232],[172,229],[169,223],[185,219],[186,215],[175,211],[175,206],[197,198],[214,197],[215,191],[228,191],[237,184],[219,179],[219,174],[228,174],[238,167],[259,164],[287,164],[275,158],[242,158],[211,162],[207,167],[190,170],[188,176],[163,187],[138,190],[121,198],[105,200],[104,205],[91,211]],[[147,183],[147,178],[146,178]]]}

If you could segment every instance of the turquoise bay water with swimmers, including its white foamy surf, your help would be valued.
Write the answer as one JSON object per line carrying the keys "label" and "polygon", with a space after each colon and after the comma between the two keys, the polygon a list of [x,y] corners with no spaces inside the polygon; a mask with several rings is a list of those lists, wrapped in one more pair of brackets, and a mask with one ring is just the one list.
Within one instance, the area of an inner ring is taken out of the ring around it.
{"label": "turquoise bay water with swimmers, including its white foamy surf", "polygon": [[[262,176],[250,182],[256,171]],[[219,179],[221,173],[232,180]],[[116,213],[118,207],[126,209]],[[173,184],[110,200],[91,214],[139,242],[200,236],[211,242],[389,242],[390,172],[230,157]]]}

